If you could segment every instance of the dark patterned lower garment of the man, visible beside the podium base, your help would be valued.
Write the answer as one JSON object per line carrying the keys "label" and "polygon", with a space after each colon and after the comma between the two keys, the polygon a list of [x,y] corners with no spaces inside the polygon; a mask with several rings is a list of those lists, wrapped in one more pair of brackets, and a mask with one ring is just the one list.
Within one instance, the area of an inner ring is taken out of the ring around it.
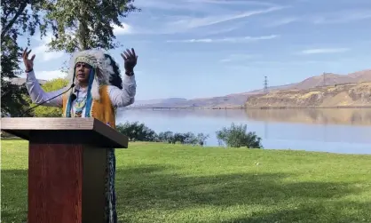
{"label": "dark patterned lower garment of the man, visible beside the podium base", "polygon": [[117,223],[116,195],[114,193],[114,175],[116,171],[116,157],[114,148],[107,149],[107,177],[106,177],[106,222]]}

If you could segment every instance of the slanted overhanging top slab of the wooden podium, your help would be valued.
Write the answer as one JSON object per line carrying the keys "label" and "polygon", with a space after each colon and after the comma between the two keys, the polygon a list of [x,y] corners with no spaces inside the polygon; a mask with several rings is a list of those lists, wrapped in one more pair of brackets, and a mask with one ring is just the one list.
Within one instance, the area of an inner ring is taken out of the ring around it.
{"label": "slanted overhanging top slab of the wooden podium", "polygon": [[93,117],[6,117],[1,118],[1,130],[27,140],[32,140],[33,132],[42,132],[45,136],[63,132],[72,135],[74,143],[81,139],[84,144],[99,147],[126,148],[129,140],[127,136]]}

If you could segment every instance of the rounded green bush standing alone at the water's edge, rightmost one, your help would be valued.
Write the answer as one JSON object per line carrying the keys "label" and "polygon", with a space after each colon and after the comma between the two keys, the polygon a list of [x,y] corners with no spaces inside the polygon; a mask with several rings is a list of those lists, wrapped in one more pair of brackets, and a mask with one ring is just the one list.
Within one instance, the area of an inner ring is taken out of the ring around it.
{"label": "rounded green bush standing alone at the water's edge, rightmost one", "polygon": [[219,145],[225,144],[227,147],[263,147],[260,142],[261,138],[257,137],[255,132],[247,132],[246,124],[236,126],[232,123],[229,129],[224,127],[221,131],[217,131],[216,133]]}

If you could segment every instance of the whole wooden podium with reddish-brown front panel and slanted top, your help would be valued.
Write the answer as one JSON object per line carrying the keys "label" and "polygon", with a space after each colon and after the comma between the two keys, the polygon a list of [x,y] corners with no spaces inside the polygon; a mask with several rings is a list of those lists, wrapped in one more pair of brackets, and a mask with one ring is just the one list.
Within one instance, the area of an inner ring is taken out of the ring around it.
{"label": "whole wooden podium with reddish-brown front panel and slanted top", "polygon": [[94,118],[2,118],[1,129],[29,142],[28,223],[105,222],[106,148],[127,148],[126,136]]}

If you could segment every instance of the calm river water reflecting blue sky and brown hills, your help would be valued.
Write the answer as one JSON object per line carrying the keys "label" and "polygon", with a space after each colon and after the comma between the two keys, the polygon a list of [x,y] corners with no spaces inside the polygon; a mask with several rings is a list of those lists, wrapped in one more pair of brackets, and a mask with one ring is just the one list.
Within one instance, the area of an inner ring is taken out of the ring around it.
{"label": "calm river water reflecting blue sky and brown hills", "polygon": [[217,146],[215,131],[246,123],[270,149],[299,149],[371,154],[371,108],[271,110],[122,109],[117,123],[146,123],[156,132],[209,134],[206,146]]}

